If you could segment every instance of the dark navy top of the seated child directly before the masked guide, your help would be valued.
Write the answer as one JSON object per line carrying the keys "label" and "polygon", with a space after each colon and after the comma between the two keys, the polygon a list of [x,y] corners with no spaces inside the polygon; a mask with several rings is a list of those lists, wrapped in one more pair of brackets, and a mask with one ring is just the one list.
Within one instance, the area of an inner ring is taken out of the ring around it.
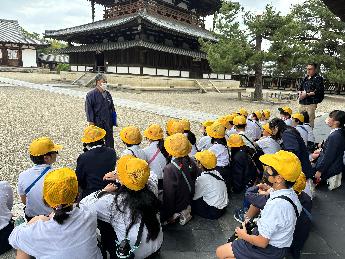
{"label": "dark navy top of the seated child directly before the masked guide", "polygon": [[77,159],[76,174],[82,198],[103,189],[109,182],[103,180],[106,173],[115,170],[116,152],[108,147],[96,147],[81,154]]}

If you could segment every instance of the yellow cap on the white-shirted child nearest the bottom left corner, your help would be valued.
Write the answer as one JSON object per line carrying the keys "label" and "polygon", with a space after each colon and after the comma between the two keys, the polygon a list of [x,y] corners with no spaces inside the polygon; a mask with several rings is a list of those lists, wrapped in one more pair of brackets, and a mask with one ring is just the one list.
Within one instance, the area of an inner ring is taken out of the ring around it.
{"label": "yellow cap on the white-shirted child nearest the bottom left corner", "polygon": [[44,177],[43,198],[51,208],[72,205],[77,195],[78,180],[72,169],[55,169]]}

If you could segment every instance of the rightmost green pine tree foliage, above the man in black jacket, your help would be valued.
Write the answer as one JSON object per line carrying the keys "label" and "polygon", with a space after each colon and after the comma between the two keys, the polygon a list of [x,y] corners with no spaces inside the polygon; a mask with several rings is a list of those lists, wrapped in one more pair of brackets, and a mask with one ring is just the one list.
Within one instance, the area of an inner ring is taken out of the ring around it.
{"label": "rightmost green pine tree foliage, above the man in black jacket", "polygon": [[306,63],[316,62],[329,81],[345,83],[345,23],[321,0],[295,5],[286,19],[270,48],[275,73],[301,77]]}

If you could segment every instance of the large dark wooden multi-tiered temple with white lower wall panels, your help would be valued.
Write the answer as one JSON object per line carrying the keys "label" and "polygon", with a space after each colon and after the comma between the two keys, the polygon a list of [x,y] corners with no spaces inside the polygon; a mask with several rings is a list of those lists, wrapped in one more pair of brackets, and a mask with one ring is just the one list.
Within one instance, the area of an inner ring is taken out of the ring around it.
{"label": "large dark wooden multi-tiered temple with white lower wall panels", "polygon": [[104,7],[103,20],[49,30],[46,38],[68,47],[72,71],[202,78],[211,72],[199,39],[216,41],[205,17],[220,0],[89,0]]}

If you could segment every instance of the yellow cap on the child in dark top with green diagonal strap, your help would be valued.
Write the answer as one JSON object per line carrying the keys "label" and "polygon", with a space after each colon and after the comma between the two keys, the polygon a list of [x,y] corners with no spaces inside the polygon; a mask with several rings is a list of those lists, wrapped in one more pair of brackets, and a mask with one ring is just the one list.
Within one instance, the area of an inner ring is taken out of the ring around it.
{"label": "yellow cap on the child in dark top with green diagonal strap", "polygon": [[169,155],[176,158],[185,157],[192,150],[192,145],[182,133],[176,133],[167,137],[164,141],[164,147]]}

